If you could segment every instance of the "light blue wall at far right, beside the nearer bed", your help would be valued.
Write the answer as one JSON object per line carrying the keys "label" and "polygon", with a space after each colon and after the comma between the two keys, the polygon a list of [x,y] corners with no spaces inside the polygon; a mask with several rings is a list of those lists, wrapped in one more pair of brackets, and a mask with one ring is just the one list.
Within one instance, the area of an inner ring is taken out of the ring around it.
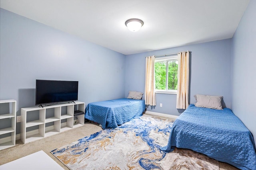
{"label": "light blue wall at far right, beside the nearer bed", "polygon": [[256,0],[250,0],[232,39],[231,101],[256,143]]}

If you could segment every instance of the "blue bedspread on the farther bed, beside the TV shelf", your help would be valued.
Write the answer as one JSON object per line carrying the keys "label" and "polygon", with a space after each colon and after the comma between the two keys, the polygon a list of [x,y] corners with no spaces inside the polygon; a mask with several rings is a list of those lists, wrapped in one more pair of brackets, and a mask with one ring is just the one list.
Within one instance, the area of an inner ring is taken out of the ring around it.
{"label": "blue bedspread on the farther bed, beside the TV shelf", "polygon": [[115,128],[131,119],[142,116],[145,100],[128,98],[89,103],[84,117],[100,123],[103,129]]}

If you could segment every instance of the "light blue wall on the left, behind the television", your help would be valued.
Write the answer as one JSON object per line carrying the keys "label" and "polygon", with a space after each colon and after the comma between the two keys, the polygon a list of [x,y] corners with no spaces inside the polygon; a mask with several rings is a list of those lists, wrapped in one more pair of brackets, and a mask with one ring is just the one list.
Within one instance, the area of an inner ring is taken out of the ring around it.
{"label": "light blue wall on the left, behind the television", "polygon": [[4,9],[0,17],[0,100],[17,100],[17,115],[35,106],[36,79],[78,80],[86,105],[124,97],[125,55]]}

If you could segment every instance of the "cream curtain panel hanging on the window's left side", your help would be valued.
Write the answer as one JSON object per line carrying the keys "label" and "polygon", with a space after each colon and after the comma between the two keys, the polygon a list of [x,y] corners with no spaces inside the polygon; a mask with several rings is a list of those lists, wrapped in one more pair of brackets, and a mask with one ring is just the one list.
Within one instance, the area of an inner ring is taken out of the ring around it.
{"label": "cream curtain panel hanging on the window's left side", "polygon": [[156,106],[155,96],[155,56],[146,57],[145,104]]}

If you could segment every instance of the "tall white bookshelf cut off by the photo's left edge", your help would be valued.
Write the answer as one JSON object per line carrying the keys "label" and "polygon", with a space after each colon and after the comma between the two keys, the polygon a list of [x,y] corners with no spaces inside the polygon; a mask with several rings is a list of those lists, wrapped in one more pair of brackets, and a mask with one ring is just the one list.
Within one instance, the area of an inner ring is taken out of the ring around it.
{"label": "tall white bookshelf cut off by the photo's left edge", "polygon": [[0,136],[10,134],[9,137],[0,138],[0,150],[15,146],[16,141],[16,100],[0,100],[0,107],[9,104],[10,113],[0,113],[0,121],[11,119],[9,127],[0,129]]}

